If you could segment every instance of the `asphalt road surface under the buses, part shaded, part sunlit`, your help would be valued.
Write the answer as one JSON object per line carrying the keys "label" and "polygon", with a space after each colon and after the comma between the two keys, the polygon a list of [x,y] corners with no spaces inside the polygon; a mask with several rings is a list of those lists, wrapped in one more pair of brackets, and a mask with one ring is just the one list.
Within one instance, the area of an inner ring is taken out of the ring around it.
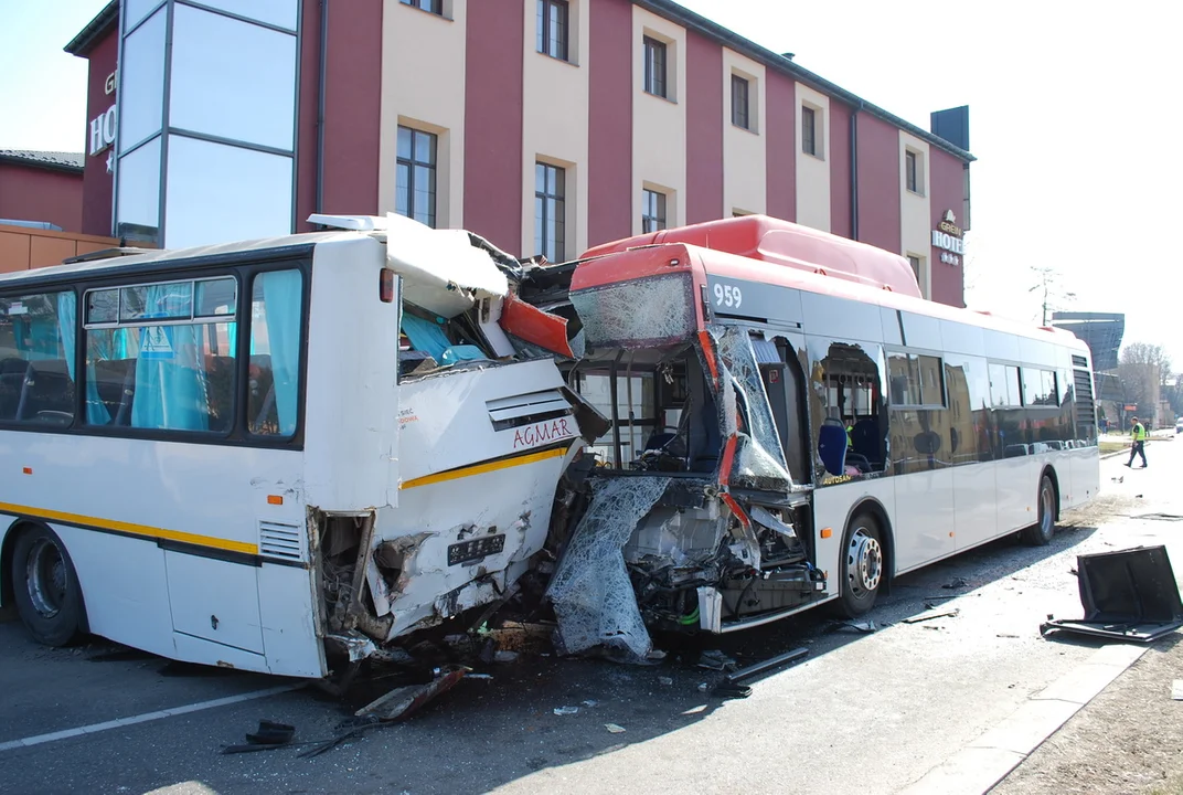
{"label": "asphalt road surface under the buses, part shaded, part sunlit", "polygon": [[[1103,495],[1066,515],[1049,547],[1003,539],[901,579],[872,614],[873,634],[835,629],[814,612],[722,639],[716,647],[741,662],[810,649],[804,662],[755,680],[746,699],[702,693],[699,683],[717,674],[689,664],[693,654],[640,668],[534,658],[489,666],[493,679],[464,680],[414,719],[313,758],[297,757],[300,749],[227,756],[222,746],[244,742],[260,718],[315,741],[332,736],[356,703],[312,689],[260,696],[287,681],[99,640],[43,648],[8,616],[0,791],[897,791],[1099,647],[1039,634],[1048,613],[1080,615],[1075,555],[1166,543],[1183,574],[1183,523],[1137,518],[1183,515],[1172,481],[1183,441],[1155,442],[1148,457],[1145,471],[1103,461]],[[963,587],[943,588],[958,579]],[[932,596],[953,596],[940,605],[958,614],[901,622]],[[214,699],[224,702],[207,704]],[[580,709],[558,716],[560,706]]]}

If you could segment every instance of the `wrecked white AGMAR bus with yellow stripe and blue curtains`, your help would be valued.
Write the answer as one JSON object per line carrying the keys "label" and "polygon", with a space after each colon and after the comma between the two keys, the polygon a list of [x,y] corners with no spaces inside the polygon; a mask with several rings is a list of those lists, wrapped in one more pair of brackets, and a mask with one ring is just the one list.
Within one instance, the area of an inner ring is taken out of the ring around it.
{"label": "wrecked white AGMAR bus with yellow stripe and blue curtains", "polygon": [[353,228],[0,276],[0,599],[38,641],[319,678],[513,592],[596,427],[498,323],[517,260]]}

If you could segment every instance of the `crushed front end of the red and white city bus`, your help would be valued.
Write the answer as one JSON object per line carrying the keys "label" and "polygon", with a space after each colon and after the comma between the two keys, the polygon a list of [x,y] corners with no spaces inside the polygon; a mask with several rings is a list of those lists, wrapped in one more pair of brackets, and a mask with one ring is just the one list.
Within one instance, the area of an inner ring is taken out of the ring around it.
{"label": "crushed front end of the red and white city bus", "polygon": [[801,406],[795,362],[706,317],[703,284],[681,245],[586,261],[571,278],[586,350],[568,381],[612,429],[590,446],[597,465],[564,480],[562,498],[583,505],[558,529],[569,536],[548,589],[567,653],[642,659],[649,629],[726,632],[826,595],[812,487],[781,435],[796,422],[774,418]]}

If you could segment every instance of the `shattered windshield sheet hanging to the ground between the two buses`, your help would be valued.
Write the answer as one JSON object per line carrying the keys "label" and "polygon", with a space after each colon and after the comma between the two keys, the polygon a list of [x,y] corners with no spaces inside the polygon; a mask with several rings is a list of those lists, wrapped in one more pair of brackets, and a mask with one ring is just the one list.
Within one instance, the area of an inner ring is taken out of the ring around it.
{"label": "shattered windshield sheet hanging to the ground between the two buses", "polygon": [[665,493],[670,478],[614,478],[593,486],[547,595],[565,652],[596,646],[642,660],[653,648],[621,548]]}

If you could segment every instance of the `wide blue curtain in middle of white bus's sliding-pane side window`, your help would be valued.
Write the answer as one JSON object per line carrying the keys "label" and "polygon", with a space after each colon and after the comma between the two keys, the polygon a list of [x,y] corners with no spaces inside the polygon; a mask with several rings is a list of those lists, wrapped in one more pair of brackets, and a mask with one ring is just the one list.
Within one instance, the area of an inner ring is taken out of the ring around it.
{"label": "wide blue curtain in middle of white bus's sliding-pane side window", "polygon": [[[168,315],[169,285],[148,287],[146,317]],[[175,431],[207,431],[209,402],[200,325],[146,325],[140,329],[136,399],[131,426]]]}

